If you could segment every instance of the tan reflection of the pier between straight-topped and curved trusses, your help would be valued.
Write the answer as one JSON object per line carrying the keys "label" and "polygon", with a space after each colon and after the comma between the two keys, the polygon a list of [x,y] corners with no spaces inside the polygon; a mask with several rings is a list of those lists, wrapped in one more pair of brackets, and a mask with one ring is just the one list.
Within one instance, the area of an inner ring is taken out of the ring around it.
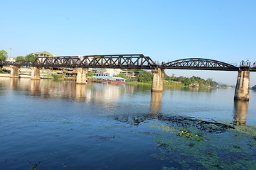
{"label": "tan reflection of the pier between straight-topped and curved trusses", "polygon": [[150,103],[150,113],[158,115],[161,109],[161,98],[163,96],[162,92],[151,92],[151,103]]}

